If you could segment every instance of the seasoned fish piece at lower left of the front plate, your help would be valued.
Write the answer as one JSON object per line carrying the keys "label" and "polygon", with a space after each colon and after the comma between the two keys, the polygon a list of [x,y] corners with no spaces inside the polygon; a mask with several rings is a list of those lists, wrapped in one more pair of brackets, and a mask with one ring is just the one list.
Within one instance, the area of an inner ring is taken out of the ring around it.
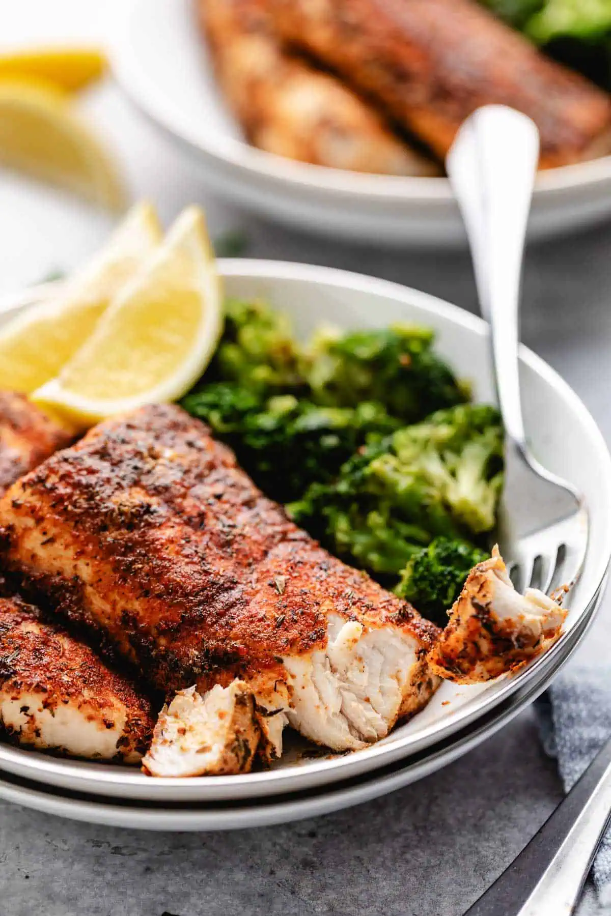
{"label": "seasoned fish piece at lower left of the front plate", "polygon": [[150,740],[150,705],[92,649],[0,598],[0,723],[19,745],[70,757],[137,763]]}

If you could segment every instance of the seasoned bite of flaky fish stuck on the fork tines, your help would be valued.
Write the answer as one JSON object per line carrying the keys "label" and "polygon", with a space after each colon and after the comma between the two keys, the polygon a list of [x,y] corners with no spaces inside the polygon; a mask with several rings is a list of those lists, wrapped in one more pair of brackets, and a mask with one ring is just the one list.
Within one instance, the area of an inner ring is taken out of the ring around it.
{"label": "seasoned bite of flaky fish stuck on the fork tines", "polygon": [[547,651],[561,636],[566,615],[539,589],[519,594],[495,547],[469,573],[429,663],[448,681],[490,681]]}

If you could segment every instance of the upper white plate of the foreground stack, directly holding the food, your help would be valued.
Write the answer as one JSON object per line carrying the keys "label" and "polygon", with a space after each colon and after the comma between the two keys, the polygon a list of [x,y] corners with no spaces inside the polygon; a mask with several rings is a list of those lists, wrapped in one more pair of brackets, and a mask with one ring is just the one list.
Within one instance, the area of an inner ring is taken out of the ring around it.
{"label": "upper white plate of the foreground stack, directly holding the food", "polygon": [[[219,265],[228,295],[269,301],[289,314],[301,336],[321,322],[346,329],[400,321],[431,326],[438,333],[438,350],[460,376],[473,381],[475,398],[493,397],[486,324],[466,311],[396,283],[328,267],[249,260],[222,260]],[[20,307],[36,298],[36,293],[22,296]],[[0,311],[16,304],[5,302]],[[572,389],[526,348],[521,358],[526,423],[534,453],[544,466],[581,488],[591,510],[591,542],[583,577],[571,596],[568,635],[592,611],[611,557],[607,523],[611,458],[594,420]],[[443,683],[411,722],[376,745],[344,757],[284,763],[241,776],[152,780],[137,770],[49,758],[0,744],[0,769],[72,791],[152,802],[218,802],[308,790],[387,766],[453,735],[530,679],[554,670],[564,657],[566,639],[513,678],[469,688]]]}

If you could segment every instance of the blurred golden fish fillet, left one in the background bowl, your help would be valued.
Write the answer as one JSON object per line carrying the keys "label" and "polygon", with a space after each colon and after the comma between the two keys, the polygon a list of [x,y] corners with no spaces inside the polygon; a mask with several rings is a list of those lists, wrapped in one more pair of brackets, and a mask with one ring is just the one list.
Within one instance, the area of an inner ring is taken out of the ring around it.
{"label": "blurred golden fish fillet, left one in the background bowl", "polygon": [[256,147],[336,169],[438,175],[337,78],[283,49],[266,0],[199,0],[219,82]]}

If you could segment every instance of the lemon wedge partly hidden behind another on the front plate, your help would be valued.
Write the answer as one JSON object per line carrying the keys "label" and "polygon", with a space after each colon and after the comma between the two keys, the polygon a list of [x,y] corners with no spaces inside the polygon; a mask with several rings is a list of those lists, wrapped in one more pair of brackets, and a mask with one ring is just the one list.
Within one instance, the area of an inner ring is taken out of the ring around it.
{"label": "lemon wedge partly hidden behind another on the front plate", "polygon": [[104,249],[54,298],[0,326],[0,389],[30,394],[60,373],[91,335],[110,300],[161,241],[157,214],[137,204]]}

